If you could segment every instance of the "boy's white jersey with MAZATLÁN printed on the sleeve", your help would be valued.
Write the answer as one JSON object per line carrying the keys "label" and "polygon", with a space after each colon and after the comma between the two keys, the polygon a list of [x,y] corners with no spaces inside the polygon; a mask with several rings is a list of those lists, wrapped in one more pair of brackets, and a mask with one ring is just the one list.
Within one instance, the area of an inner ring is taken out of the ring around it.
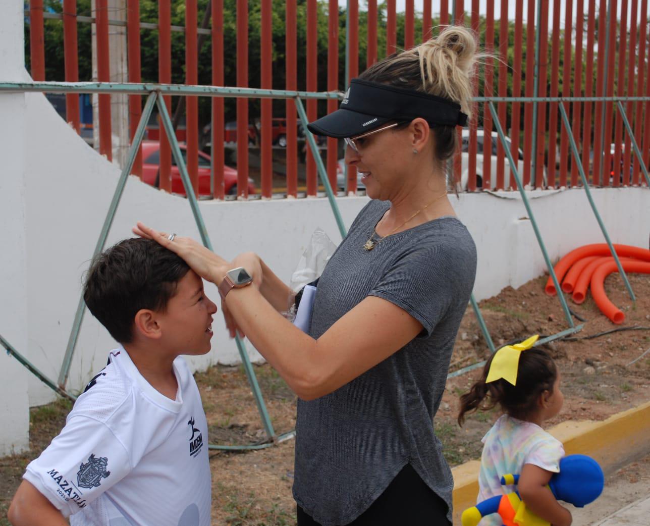
{"label": "boy's white jersey with MAZATL\u00c1N printed on the sleeve", "polygon": [[75,402],[66,425],[23,476],[72,526],[209,526],[207,421],[183,357],[170,400],[124,348]]}

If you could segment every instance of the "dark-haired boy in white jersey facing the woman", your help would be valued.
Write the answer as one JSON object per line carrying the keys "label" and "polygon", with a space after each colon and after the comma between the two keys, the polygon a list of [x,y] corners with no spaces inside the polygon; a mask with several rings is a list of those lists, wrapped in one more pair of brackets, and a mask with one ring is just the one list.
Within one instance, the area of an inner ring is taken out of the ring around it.
{"label": "dark-haired boy in white jersey facing the woman", "polygon": [[174,253],[127,239],[86,278],[88,309],[121,346],[27,466],[14,526],[209,526],[207,421],[181,354],[210,350],[216,305]]}

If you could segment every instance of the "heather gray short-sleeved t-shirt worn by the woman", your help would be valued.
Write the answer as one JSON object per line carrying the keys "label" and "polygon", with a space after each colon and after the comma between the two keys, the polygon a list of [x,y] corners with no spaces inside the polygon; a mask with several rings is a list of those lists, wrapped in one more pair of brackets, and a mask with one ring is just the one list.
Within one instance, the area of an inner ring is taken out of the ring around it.
{"label": "heather gray short-sleeved t-shirt worn by the woman", "polygon": [[363,244],[389,205],[370,201],[331,257],[309,334],[320,337],[367,296],[400,306],[424,330],[333,393],[298,400],[293,495],[323,526],[352,522],[406,464],[445,499],[451,520],[453,480],[433,420],[474,285],[476,247],[458,219],[442,217],[367,252]]}

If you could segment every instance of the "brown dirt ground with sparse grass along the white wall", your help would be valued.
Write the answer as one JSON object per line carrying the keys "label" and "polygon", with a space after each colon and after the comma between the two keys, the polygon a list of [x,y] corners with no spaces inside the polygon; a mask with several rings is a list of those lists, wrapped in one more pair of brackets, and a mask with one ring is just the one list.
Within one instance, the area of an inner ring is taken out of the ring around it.
{"label": "brown dirt ground with sparse grass along the white wall", "polygon": [[[562,371],[565,395],[562,412],[549,427],[568,419],[602,420],[612,414],[650,401],[650,276],[629,276],[636,294],[633,305],[618,274],[607,278],[609,298],[626,315],[625,322],[612,324],[598,311],[591,296],[569,306],[585,321],[571,337],[546,345]],[[510,287],[480,302],[491,337],[497,347],[521,341],[533,334],[548,336],[567,328],[558,298],[545,295],[546,276],[531,280],[516,291]],[[629,330],[634,328],[634,330]],[[617,330],[610,334],[601,332]],[[597,335],[596,337],[591,337]],[[471,308],[461,323],[450,371],[456,371],[489,356]],[[641,358],[640,358],[641,357]],[[255,367],[272,424],[278,434],[293,429],[296,398],[268,365]],[[450,378],[435,428],[445,444],[445,456],[455,466],[478,458],[483,434],[498,416],[495,410],[469,415],[465,425],[456,423],[458,397],[476,380],[480,369]],[[197,373],[208,418],[210,442],[244,445],[261,443],[265,432],[242,367],[211,367]],[[6,507],[31,458],[38,455],[59,432],[70,410],[64,401],[31,410],[31,451],[0,458],[0,526]],[[294,441],[248,453],[211,451],[213,473],[213,525],[284,526],[294,524],[291,497]],[[647,463],[647,462],[646,462]],[[621,475],[623,477],[623,475]]]}

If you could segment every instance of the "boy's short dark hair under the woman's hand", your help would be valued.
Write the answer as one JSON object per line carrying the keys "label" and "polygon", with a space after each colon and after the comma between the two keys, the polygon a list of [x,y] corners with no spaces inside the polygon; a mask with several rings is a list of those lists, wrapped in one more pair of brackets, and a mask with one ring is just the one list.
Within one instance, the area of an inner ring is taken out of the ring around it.
{"label": "boy's short dark hair under the woman's hand", "polygon": [[116,341],[130,343],[136,313],[164,311],[189,269],[183,259],[151,239],[125,239],[92,261],[83,298]]}

